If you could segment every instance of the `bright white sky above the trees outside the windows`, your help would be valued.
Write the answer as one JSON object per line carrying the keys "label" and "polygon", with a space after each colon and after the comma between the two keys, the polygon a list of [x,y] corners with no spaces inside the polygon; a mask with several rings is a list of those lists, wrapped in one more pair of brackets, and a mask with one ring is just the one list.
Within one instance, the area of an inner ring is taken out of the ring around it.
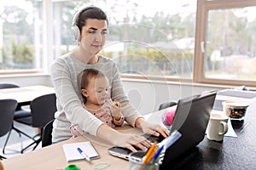
{"label": "bright white sky above the trees outside the windows", "polygon": [[[93,0],[92,2],[99,7],[102,7],[104,9],[106,8],[107,14],[113,14],[113,9],[108,8],[108,6],[110,7],[113,6],[114,3],[118,3],[117,5],[119,5],[121,8],[119,8],[119,11],[116,11],[115,17],[119,18],[119,20],[123,20],[126,14],[126,10],[130,11],[128,14],[132,18],[133,10],[131,10],[131,8],[133,8],[133,6],[131,5],[131,2],[135,2],[138,4],[137,15],[139,17],[142,15],[152,17],[157,11],[161,11],[164,14],[182,13],[183,17],[185,17],[186,15],[195,12],[196,6],[196,0],[178,0],[172,1],[172,3],[170,3],[169,0],[156,0],[150,1],[150,3],[148,0],[108,0],[107,3],[102,3],[102,0]],[[185,4],[189,5],[186,6]],[[26,11],[28,13],[32,13],[33,11],[32,4],[27,2],[26,0],[0,0],[0,14],[3,12],[4,5],[17,5],[20,8],[26,8]],[[244,8],[243,10],[238,11],[236,14],[241,16],[247,16],[248,20],[251,21],[255,19],[256,10],[255,7],[247,8],[247,10],[245,10]]]}

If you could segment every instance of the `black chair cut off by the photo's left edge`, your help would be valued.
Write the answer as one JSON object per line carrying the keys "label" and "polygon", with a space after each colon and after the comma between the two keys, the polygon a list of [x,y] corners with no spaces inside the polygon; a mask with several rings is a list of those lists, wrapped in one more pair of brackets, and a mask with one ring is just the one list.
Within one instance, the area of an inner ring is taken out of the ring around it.
{"label": "black chair cut off by the photo's left edge", "polygon": [[[0,99],[0,137],[11,131],[17,105],[15,99]],[[0,159],[6,157],[0,155]]]}

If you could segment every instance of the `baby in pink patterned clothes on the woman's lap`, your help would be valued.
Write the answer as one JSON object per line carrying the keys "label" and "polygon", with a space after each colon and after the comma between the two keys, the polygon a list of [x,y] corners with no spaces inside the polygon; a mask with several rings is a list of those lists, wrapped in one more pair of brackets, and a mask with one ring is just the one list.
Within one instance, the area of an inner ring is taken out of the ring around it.
{"label": "baby in pink patterned clothes on the woman's lap", "polygon": [[[108,78],[96,69],[85,69],[81,72],[80,82],[84,108],[109,127],[122,126],[121,104],[108,97]],[[77,124],[71,125],[70,130],[73,138],[84,133]]]}

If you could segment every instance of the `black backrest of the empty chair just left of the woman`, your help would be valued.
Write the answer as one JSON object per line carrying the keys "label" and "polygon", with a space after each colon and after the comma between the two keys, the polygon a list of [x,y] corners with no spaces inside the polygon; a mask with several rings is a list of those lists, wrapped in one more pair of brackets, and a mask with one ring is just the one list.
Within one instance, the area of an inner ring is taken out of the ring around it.
{"label": "black backrest of the empty chair just left of the woman", "polygon": [[56,108],[55,94],[45,94],[30,103],[32,112],[32,127],[43,128],[49,121],[54,119]]}

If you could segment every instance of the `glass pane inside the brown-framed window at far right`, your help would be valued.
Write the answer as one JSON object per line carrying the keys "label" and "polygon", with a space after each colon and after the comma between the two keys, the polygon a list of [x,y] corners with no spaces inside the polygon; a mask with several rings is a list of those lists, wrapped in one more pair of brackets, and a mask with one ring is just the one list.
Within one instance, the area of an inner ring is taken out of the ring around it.
{"label": "glass pane inside the brown-framed window at far right", "polygon": [[205,76],[256,80],[256,7],[212,9],[207,18]]}

